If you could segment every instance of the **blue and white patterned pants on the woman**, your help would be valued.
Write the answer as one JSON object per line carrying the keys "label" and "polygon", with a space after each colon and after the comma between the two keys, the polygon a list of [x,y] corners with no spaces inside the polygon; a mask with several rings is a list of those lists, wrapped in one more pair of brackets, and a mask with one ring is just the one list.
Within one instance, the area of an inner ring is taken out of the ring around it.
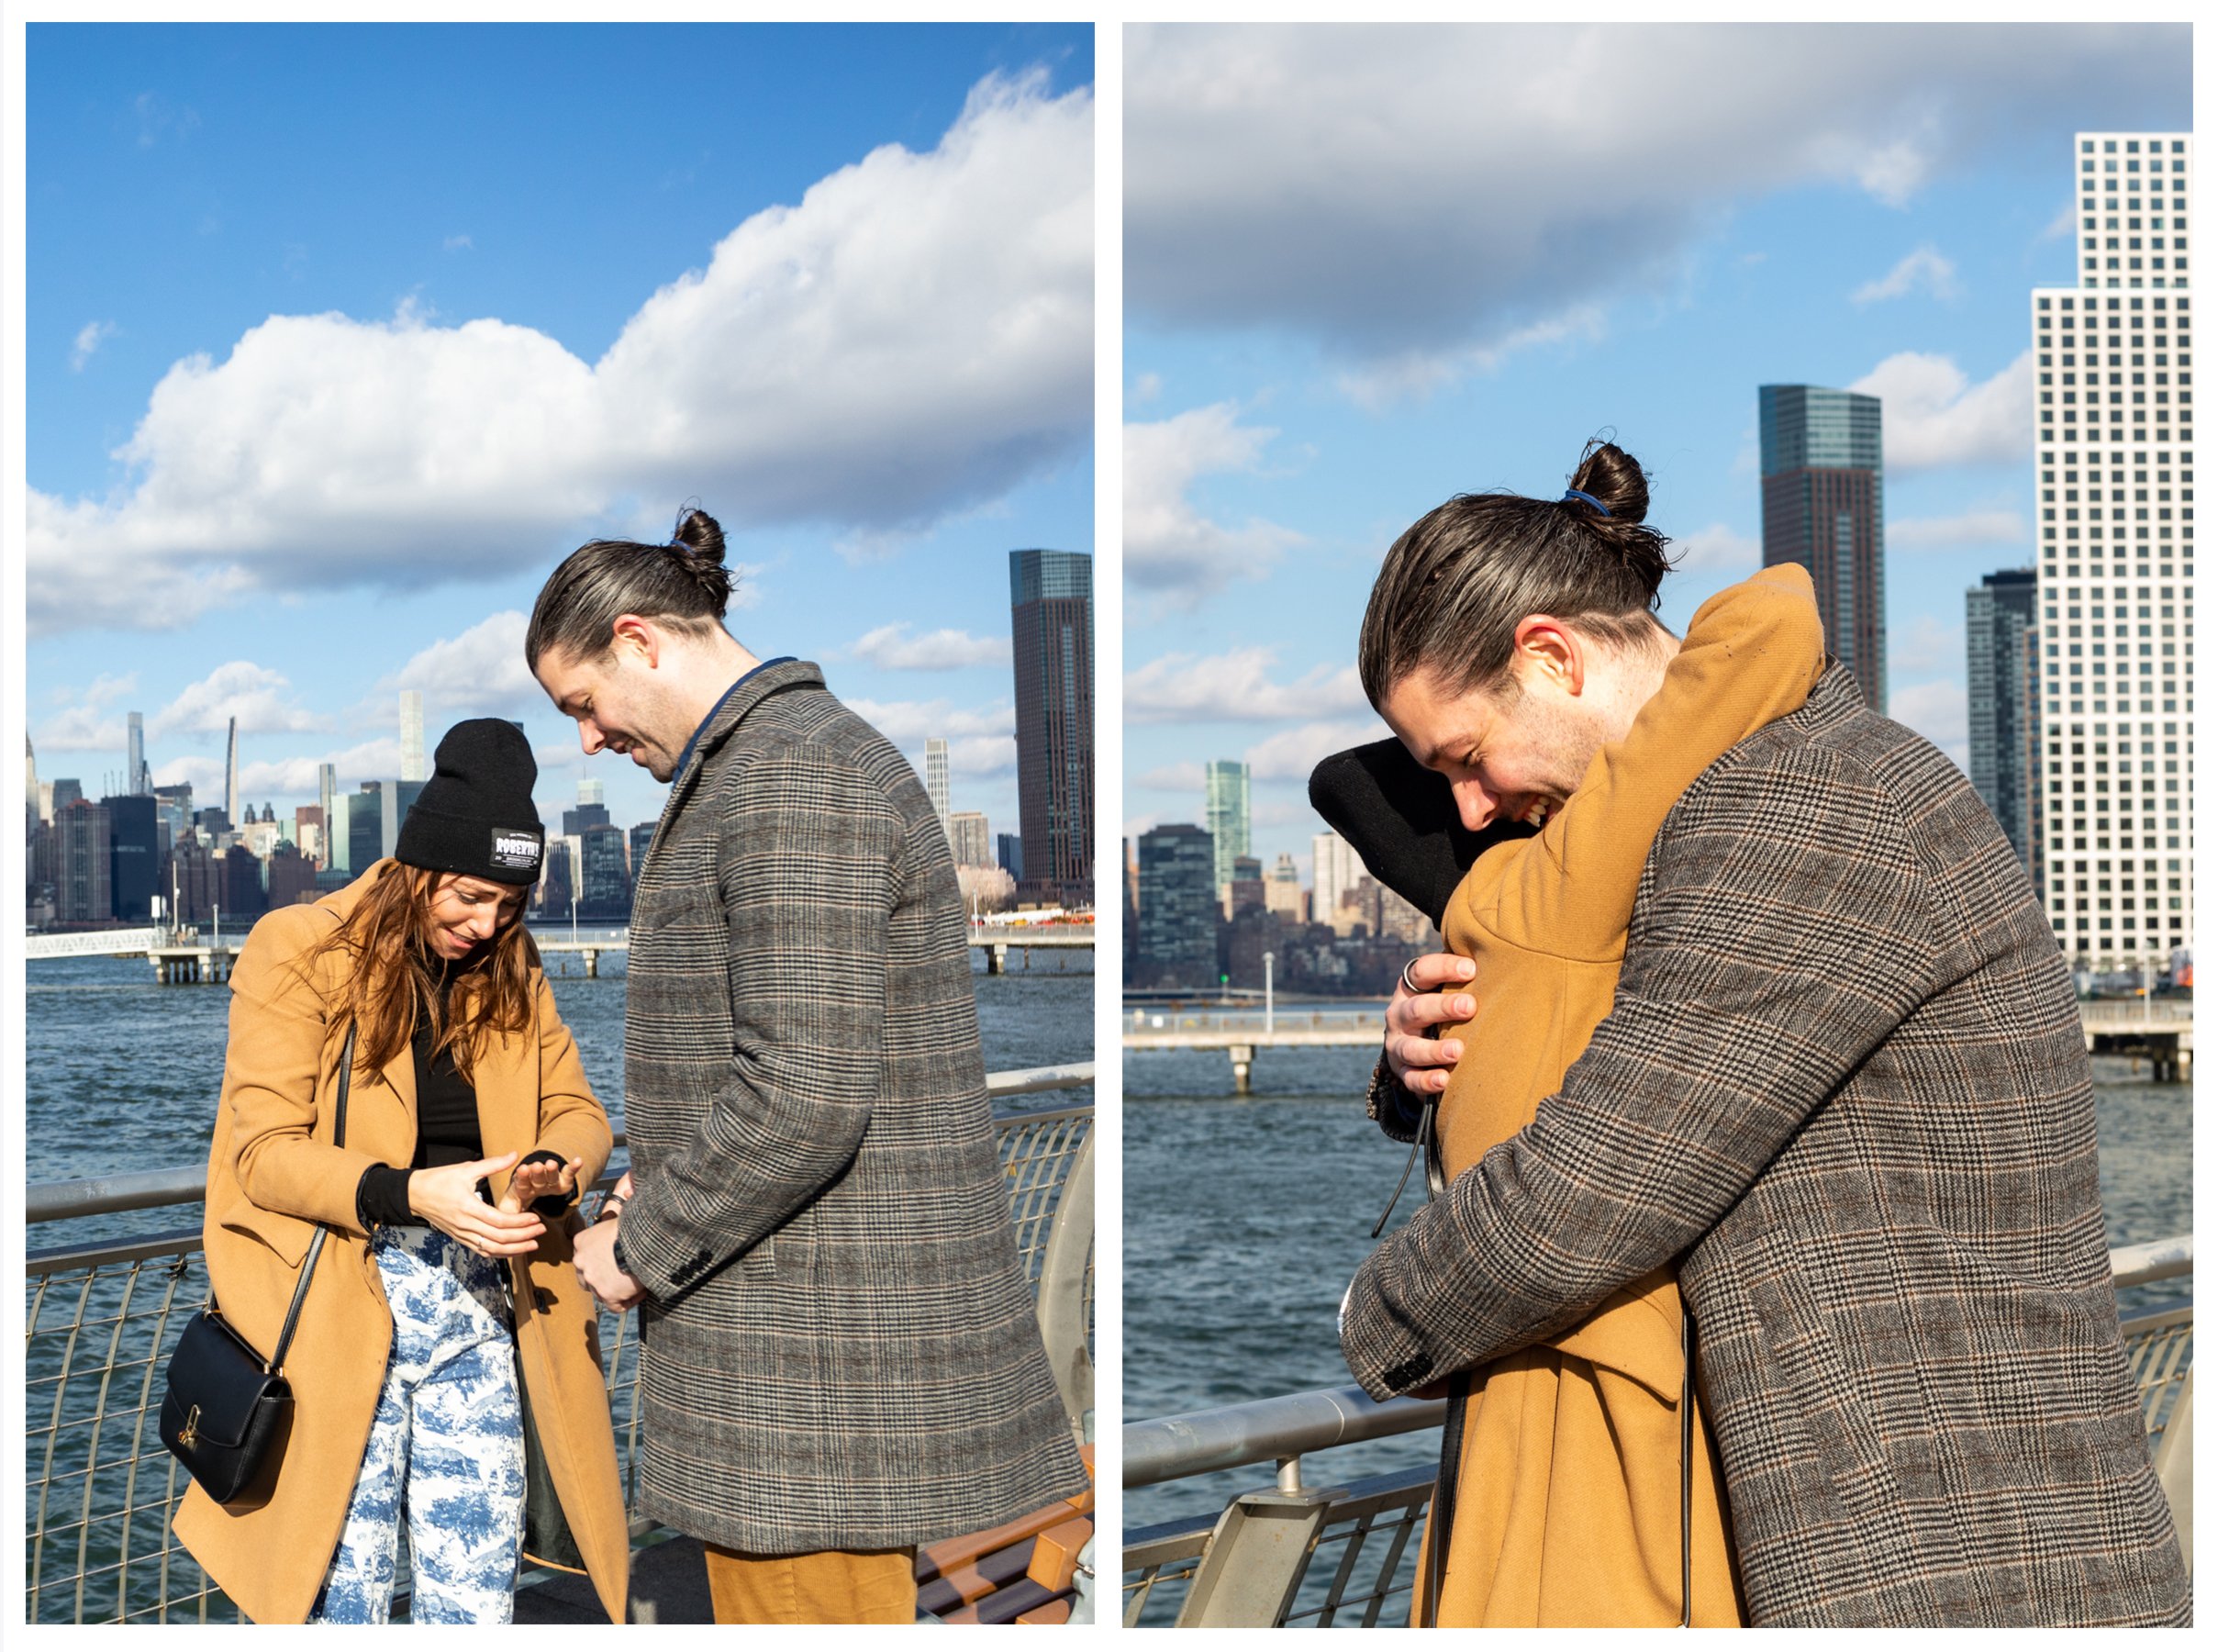
{"label": "blue and white patterned pants on the woman", "polygon": [[501,1264],[437,1228],[388,1226],[370,1255],[393,1357],[315,1623],[384,1623],[401,1517],[415,1623],[508,1623],[523,1548],[523,1415]]}

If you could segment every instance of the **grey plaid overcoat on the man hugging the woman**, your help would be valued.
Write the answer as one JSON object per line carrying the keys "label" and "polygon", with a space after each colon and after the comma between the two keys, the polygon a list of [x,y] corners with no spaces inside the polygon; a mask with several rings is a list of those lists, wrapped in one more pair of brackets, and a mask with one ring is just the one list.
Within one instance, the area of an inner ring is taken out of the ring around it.
{"label": "grey plaid overcoat on the man hugging the woman", "polygon": [[1965,776],[1839,665],[1679,798],[1608,1020],[1364,1262],[1342,1348],[1384,1399],[1675,1257],[1750,1623],[2189,1621],[2072,980]]}

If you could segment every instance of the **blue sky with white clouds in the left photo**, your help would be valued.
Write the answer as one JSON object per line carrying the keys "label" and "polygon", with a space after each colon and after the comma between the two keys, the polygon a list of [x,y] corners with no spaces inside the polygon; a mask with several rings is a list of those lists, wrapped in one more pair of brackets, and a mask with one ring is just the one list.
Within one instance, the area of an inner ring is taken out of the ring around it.
{"label": "blue sky with white clouds in the left photo", "polygon": [[[93,792],[288,818],[521,716],[583,539],[683,501],[730,630],[1016,829],[1007,552],[1091,550],[1089,27],[62,27],[27,51],[29,696]],[[743,603],[743,605],[741,605]]]}

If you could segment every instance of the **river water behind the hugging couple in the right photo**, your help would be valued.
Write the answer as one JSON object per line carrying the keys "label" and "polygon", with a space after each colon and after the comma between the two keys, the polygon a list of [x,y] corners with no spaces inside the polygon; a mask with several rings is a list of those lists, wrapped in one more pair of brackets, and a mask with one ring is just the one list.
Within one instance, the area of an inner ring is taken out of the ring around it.
{"label": "river water behind the hugging couple in the right photo", "polygon": [[[1351,1381],[1335,1328],[1340,1295],[1375,1244],[1371,1224],[1408,1151],[1364,1118],[1373,1058],[1258,1051],[1253,1095],[1235,1098],[1222,1051],[1127,1051],[1127,1421]],[[2189,1102],[2187,1084],[2136,1082],[2125,1062],[2096,1062],[2114,1246],[2194,1226]],[[1395,1222],[1422,1197],[1413,1177]],[[2167,1299],[2176,1291],[2154,1288]],[[2123,1306],[2131,1313],[2136,1302]],[[1433,1448],[1433,1435],[1344,1446],[1306,1464],[1304,1479],[1344,1486],[1426,1466]],[[1262,1464],[1131,1490],[1125,1526],[1215,1510],[1269,1483]]]}

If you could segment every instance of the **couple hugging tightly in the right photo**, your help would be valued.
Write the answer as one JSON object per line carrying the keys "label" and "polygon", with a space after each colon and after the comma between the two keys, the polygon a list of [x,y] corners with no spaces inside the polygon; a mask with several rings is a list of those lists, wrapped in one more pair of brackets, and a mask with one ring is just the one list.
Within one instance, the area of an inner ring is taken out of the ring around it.
{"label": "couple hugging tightly in the right photo", "polygon": [[2187,1623],[2074,989],[2023,863],[1768,568],[1683,639],[1648,488],[1386,557],[1320,812],[1439,922],[1371,1109],[1439,1195],[1342,1306],[1446,1393],[1420,1623]]}

